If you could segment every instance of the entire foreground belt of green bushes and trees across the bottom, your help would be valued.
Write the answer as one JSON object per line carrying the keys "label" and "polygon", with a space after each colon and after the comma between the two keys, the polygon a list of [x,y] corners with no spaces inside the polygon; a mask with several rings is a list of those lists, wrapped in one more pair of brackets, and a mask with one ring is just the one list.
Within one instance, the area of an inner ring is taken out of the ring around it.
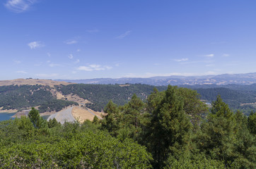
{"label": "entire foreground belt of green bushes and trees across the bottom", "polygon": [[209,109],[196,91],[154,88],[123,106],[110,100],[103,120],[0,123],[1,168],[256,168],[256,113],[231,111],[221,96]]}

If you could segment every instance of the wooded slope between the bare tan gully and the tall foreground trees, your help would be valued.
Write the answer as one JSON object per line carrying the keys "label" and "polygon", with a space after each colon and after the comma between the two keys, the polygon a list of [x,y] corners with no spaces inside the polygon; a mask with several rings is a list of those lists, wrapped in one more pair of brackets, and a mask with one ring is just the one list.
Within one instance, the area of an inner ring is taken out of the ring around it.
{"label": "wooded slope between the bare tan gully and the tall foreground trees", "polygon": [[[63,94],[77,94],[83,99],[92,101],[93,104],[86,104],[94,111],[103,111],[103,108],[112,100],[118,106],[127,104],[136,94],[140,99],[145,100],[153,90],[153,86],[147,84],[127,84],[121,87],[119,84],[70,84],[57,87]],[[161,91],[166,87],[158,87]]]}

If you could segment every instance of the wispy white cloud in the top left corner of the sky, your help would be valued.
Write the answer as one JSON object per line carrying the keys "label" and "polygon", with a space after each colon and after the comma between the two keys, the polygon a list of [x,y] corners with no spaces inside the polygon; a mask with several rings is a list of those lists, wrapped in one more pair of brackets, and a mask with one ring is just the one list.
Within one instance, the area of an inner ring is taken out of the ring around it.
{"label": "wispy white cloud in the top left corner of the sky", "polygon": [[8,0],[4,6],[15,13],[28,11],[37,0]]}

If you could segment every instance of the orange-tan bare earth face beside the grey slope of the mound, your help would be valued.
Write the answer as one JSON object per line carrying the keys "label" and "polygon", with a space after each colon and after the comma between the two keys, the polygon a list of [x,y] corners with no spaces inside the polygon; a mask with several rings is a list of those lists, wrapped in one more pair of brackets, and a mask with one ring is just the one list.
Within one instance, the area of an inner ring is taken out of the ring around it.
{"label": "orange-tan bare earth face beside the grey slope of the mound", "polygon": [[74,118],[76,120],[78,120],[80,123],[83,123],[85,120],[93,120],[94,116],[97,115],[97,117],[100,119],[100,113],[95,113],[93,111],[93,113],[95,115],[93,115],[93,113],[90,112],[91,110],[88,110],[87,108],[82,108],[79,106],[74,106],[73,110],[72,110],[72,115],[74,116]]}

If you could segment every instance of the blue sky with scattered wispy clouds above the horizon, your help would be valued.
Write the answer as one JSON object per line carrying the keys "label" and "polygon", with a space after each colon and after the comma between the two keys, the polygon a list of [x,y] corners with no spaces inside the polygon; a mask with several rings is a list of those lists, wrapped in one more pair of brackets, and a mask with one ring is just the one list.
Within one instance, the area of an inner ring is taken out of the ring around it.
{"label": "blue sky with scattered wispy clouds above the horizon", "polygon": [[0,80],[256,72],[255,0],[4,0]]}

